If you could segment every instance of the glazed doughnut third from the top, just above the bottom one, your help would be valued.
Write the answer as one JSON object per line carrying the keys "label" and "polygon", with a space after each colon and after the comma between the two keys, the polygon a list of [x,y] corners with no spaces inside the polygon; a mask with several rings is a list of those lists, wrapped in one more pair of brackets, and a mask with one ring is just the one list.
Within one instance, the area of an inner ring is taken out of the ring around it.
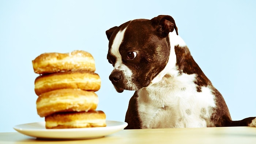
{"label": "glazed doughnut third from the top, just above the bottom one", "polygon": [[40,117],[64,111],[95,110],[98,96],[93,91],[59,89],[45,92],[37,98],[37,113]]}

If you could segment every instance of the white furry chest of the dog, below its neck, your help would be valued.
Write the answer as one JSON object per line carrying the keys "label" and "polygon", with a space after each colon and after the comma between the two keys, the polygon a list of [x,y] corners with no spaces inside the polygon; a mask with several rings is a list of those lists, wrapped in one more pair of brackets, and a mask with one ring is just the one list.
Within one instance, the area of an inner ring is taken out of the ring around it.
{"label": "white furry chest of the dog, below its neck", "polygon": [[142,128],[185,128],[209,125],[214,95],[210,88],[196,91],[195,75],[164,77],[138,93]]}

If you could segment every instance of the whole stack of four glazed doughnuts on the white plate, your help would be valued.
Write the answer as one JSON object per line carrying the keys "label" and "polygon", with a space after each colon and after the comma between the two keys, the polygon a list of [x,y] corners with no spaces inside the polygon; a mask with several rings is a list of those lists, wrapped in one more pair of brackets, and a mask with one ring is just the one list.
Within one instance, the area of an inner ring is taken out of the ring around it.
{"label": "whole stack of four glazed doughnuts on the white plate", "polygon": [[82,50],[43,53],[32,61],[37,113],[46,129],[106,126],[106,115],[96,111],[101,79],[93,56]]}

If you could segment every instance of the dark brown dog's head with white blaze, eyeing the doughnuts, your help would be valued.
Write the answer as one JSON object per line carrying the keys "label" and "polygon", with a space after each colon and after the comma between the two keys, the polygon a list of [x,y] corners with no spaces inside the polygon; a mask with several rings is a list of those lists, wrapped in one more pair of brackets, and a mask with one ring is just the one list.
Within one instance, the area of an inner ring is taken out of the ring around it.
{"label": "dark brown dog's head with white blaze, eyeing the doughnuts", "polygon": [[147,87],[165,68],[170,54],[169,33],[177,27],[171,16],[135,19],[106,31],[109,76],[117,92]]}

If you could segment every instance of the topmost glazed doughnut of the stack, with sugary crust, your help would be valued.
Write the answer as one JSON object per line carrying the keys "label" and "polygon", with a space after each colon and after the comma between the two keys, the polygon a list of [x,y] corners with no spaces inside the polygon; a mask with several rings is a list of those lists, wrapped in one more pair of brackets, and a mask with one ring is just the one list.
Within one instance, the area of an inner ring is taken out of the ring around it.
{"label": "topmost glazed doughnut of the stack, with sugary crust", "polygon": [[33,61],[34,72],[38,74],[66,71],[95,71],[93,56],[83,50],[71,53],[43,53]]}

